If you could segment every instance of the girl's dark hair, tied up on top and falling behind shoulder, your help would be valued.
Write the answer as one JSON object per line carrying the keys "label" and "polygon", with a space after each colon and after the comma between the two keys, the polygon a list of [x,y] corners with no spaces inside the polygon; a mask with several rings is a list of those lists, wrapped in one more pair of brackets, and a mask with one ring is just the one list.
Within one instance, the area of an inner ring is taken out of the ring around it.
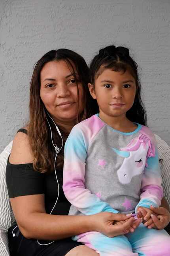
{"label": "girl's dark hair, tied up on top and falling behind shoulder", "polygon": [[93,58],[90,64],[90,80],[95,85],[95,79],[104,71],[104,69],[112,69],[113,71],[128,70],[136,81],[136,96],[134,104],[127,111],[126,116],[132,122],[147,125],[147,116],[144,104],[141,99],[141,85],[138,78],[138,65],[130,57],[128,48],[114,45],[107,46],[101,50]]}

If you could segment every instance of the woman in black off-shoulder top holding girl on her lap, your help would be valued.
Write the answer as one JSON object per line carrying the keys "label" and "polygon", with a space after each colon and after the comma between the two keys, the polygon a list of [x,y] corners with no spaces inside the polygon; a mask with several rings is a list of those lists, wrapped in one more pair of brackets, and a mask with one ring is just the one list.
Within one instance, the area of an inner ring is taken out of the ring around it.
{"label": "woman in black off-shoulder top holding girl on her lap", "polygon": [[[129,216],[111,213],[67,216],[70,204],[62,191],[63,142],[77,122],[97,112],[88,82],[85,60],[71,50],[52,50],[34,68],[30,120],[14,138],[6,169],[18,225],[9,229],[12,256],[98,255],[69,237],[88,231],[115,236],[125,230],[133,232],[140,223],[140,219],[134,222]],[[113,220],[117,225],[112,225]]]}

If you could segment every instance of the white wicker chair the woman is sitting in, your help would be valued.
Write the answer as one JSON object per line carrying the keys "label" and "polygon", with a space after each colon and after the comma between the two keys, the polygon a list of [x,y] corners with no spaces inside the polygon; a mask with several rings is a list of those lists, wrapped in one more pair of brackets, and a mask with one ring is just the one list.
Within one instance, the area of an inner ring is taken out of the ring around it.
{"label": "white wicker chair the woman is sitting in", "polygon": [[[162,158],[162,186],[164,197],[170,206],[170,147],[158,135],[155,135],[158,145],[159,158]],[[8,228],[15,221],[6,186],[6,164],[11,152],[12,141],[0,154],[0,256],[9,256]]]}

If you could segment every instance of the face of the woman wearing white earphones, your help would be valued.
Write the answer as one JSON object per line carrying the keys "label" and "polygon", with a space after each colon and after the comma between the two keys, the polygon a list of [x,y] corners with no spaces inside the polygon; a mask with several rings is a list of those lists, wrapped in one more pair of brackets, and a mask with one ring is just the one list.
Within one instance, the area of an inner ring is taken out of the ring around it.
{"label": "face of the woman wearing white earphones", "polygon": [[53,119],[60,125],[75,125],[78,110],[83,111],[83,87],[77,82],[78,96],[72,67],[63,60],[48,62],[42,68],[40,82],[40,97]]}

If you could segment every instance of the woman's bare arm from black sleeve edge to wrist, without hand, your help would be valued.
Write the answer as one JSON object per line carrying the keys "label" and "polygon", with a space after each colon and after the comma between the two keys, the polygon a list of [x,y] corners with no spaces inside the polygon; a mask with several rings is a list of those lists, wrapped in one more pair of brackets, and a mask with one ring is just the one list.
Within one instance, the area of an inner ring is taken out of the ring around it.
{"label": "woman's bare arm from black sleeve edge to wrist, without hand", "polygon": [[17,196],[10,202],[19,229],[28,239],[57,240],[95,230],[93,216],[47,214],[44,194]]}

